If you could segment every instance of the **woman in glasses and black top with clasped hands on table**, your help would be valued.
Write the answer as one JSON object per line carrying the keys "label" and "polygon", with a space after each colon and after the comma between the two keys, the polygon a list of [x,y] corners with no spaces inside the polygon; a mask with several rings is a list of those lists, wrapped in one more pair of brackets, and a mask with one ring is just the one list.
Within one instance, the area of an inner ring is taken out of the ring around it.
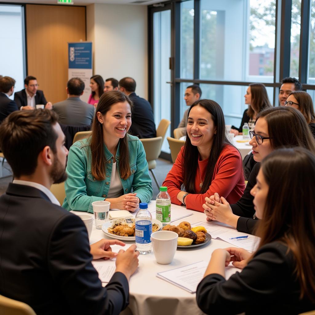
{"label": "woman in glasses and black top with clasped hands on table", "polygon": [[[273,107],[258,116],[254,131],[250,132],[254,159],[261,162],[270,152],[281,147],[301,146],[315,154],[315,142],[303,115],[292,107]],[[243,196],[229,204],[220,194],[205,198],[203,208],[207,220],[215,220],[236,227],[238,231],[253,233],[256,220],[250,190],[256,184],[260,163],[251,171]],[[220,198],[221,197],[221,198]]]}

